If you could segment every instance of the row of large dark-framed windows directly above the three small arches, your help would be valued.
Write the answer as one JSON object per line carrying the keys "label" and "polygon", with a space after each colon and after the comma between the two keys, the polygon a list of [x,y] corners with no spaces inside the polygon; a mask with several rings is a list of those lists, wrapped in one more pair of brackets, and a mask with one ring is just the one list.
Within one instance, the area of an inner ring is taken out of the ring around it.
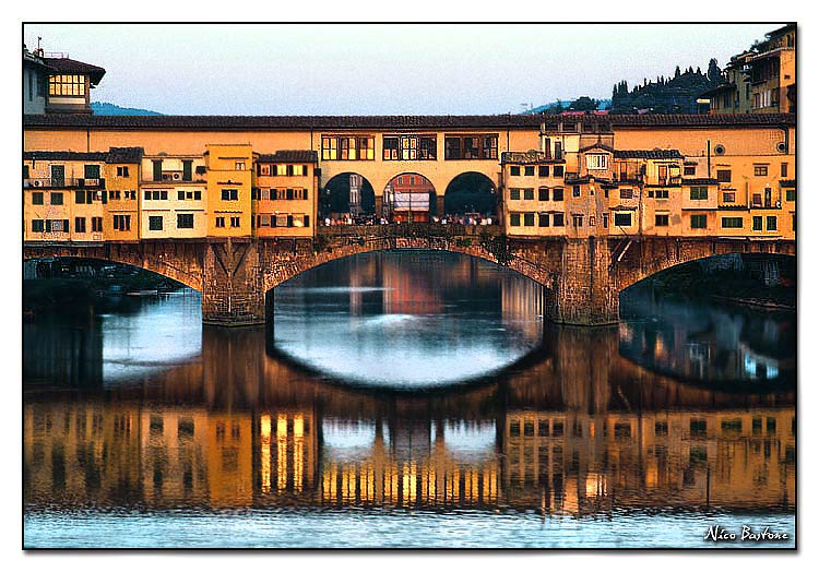
{"label": "row of large dark-framed windows directly above the three small arches", "polygon": [[[443,138],[444,159],[497,159],[498,135],[447,135]],[[375,135],[322,135],[322,160],[375,160]],[[436,160],[436,135],[383,135],[383,160]]]}

